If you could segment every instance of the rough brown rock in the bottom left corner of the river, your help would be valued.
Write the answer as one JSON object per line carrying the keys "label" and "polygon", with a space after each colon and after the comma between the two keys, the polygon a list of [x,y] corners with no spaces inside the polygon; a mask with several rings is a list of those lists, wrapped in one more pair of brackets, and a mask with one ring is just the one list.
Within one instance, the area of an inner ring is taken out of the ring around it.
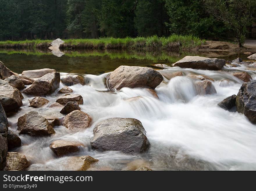
{"label": "rough brown rock in the bottom left corner of the river", "polygon": [[24,154],[8,152],[5,170],[25,170],[29,167],[29,161]]}

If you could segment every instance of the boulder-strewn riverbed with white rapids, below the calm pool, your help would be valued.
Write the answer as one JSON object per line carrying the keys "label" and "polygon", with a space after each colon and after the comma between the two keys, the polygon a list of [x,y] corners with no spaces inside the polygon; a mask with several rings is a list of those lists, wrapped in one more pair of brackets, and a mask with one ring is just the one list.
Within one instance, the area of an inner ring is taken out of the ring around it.
{"label": "boulder-strewn riverbed with white rapids, below the calm pool", "polygon": [[99,76],[0,62],[0,168],[256,169],[249,59],[186,56]]}

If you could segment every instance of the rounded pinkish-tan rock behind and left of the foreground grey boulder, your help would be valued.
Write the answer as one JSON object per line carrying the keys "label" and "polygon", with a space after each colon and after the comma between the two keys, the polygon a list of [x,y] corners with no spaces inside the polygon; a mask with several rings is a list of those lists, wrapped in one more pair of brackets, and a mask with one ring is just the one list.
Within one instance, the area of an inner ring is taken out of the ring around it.
{"label": "rounded pinkish-tan rock behind and left of the foreground grey boulder", "polygon": [[87,128],[90,126],[92,119],[87,114],[80,110],[72,111],[63,119],[63,125],[67,128]]}

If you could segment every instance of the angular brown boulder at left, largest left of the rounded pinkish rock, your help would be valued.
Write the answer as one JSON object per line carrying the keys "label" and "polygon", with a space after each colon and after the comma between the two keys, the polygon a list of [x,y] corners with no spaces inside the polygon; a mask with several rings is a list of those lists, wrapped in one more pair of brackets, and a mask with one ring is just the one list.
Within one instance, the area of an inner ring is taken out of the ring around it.
{"label": "angular brown boulder at left, largest left of the rounded pinkish rock", "polygon": [[19,117],[17,126],[17,130],[20,131],[20,134],[45,136],[55,133],[47,119],[35,111],[30,111],[29,113]]}

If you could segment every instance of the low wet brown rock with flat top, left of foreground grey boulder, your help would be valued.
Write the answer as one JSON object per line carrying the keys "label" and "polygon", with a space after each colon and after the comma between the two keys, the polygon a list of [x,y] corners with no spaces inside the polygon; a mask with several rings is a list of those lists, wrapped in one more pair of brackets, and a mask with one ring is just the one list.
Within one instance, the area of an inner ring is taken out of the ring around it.
{"label": "low wet brown rock with flat top, left of foreground grey boulder", "polygon": [[79,146],[83,146],[83,144],[74,141],[56,140],[51,143],[50,148],[57,156],[60,157],[79,151]]}

